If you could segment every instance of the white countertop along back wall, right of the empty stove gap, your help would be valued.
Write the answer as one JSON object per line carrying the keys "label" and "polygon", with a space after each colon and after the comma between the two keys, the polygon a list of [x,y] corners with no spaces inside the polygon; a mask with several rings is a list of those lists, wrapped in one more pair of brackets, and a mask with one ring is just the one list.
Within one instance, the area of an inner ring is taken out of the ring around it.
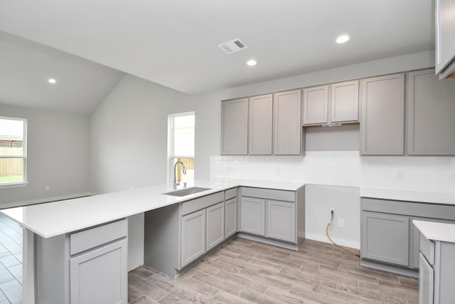
{"label": "white countertop along back wall, right of the empty stove gap", "polygon": [[360,188],[360,196],[373,199],[393,199],[396,201],[419,201],[422,203],[455,205],[455,195],[450,193]]}

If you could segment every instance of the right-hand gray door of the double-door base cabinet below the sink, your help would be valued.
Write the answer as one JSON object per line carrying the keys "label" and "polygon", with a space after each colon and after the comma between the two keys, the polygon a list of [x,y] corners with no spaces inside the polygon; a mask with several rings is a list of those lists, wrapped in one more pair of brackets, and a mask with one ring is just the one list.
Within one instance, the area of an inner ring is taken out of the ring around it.
{"label": "right-hand gray door of the double-door base cabinet below the sink", "polygon": [[210,206],[205,210],[207,216],[207,250],[217,246],[225,239],[225,202]]}

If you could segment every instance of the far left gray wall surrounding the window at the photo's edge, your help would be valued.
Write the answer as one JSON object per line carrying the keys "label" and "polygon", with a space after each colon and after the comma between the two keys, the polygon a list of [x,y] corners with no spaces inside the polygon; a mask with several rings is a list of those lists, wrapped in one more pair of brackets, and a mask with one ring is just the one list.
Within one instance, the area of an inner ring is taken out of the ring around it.
{"label": "far left gray wall surrounding the window at the photo's edge", "polygon": [[0,115],[28,120],[28,186],[1,189],[0,208],[87,194],[89,115],[3,104]]}

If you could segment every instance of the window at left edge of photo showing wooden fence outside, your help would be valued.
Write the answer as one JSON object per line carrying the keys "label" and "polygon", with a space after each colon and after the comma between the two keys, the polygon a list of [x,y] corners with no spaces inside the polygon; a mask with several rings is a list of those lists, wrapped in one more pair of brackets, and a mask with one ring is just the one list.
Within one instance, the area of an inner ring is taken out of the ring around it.
{"label": "window at left edge of photo showing wooden fence outside", "polygon": [[0,188],[26,186],[27,120],[0,117]]}

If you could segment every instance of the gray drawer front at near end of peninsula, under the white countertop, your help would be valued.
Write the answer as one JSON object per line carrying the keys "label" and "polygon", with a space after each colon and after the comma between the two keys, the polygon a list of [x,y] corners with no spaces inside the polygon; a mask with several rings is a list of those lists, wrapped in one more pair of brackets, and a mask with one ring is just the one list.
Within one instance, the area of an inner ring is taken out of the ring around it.
{"label": "gray drawer front at near end of peninsula, under the white countertop", "polygon": [[121,239],[127,235],[128,221],[126,219],[76,232],[75,234],[70,234],[70,254],[80,253],[104,243]]}

